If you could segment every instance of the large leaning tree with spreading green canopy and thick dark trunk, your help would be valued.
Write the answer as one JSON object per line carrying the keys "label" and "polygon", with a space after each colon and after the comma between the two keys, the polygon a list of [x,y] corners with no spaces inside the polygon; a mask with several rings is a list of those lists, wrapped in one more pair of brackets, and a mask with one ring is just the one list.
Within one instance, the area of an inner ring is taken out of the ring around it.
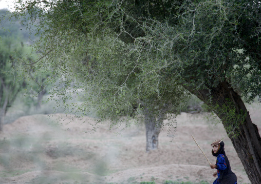
{"label": "large leaning tree with spreading green canopy and thick dark trunk", "polygon": [[53,92],[88,96],[79,113],[92,101],[119,117],[139,100],[167,103],[182,86],[214,110],[249,179],[261,183],[261,138],[242,100],[261,93],[260,2],[25,1],[15,13],[24,10],[44,29],[37,46],[49,62],[37,65],[55,67],[70,89]]}

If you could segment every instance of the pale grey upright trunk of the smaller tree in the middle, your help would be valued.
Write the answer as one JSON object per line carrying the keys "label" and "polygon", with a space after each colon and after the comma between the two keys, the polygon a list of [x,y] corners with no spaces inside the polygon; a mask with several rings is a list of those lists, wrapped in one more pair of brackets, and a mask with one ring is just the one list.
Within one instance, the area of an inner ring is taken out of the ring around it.
{"label": "pale grey upright trunk of the smaller tree in the middle", "polygon": [[144,108],[145,128],[146,128],[146,151],[158,149],[159,133],[163,124],[163,119],[167,111],[166,105],[159,110],[158,117],[154,112]]}

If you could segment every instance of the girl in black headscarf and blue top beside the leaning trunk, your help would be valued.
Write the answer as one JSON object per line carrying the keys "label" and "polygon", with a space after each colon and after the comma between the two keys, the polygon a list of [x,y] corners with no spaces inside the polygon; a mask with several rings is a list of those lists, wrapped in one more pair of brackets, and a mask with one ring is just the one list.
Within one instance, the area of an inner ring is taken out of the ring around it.
{"label": "girl in black headscarf and blue top beside the leaning trunk", "polygon": [[236,175],[231,171],[230,163],[224,150],[224,142],[218,139],[213,141],[211,146],[213,147],[212,155],[217,157],[216,164],[210,165],[211,169],[217,169],[217,172],[213,174],[213,177],[217,177],[213,184],[236,184]]}

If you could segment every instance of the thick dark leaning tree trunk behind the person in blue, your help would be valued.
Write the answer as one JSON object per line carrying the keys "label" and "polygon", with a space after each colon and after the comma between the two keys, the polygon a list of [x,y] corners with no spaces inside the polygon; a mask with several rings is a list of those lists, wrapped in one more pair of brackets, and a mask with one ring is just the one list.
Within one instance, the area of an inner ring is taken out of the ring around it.
{"label": "thick dark leaning tree trunk behind the person in blue", "polygon": [[[245,104],[240,96],[230,87],[230,85],[223,81],[215,88],[206,90],[194,90],[188,86],[185,86],[191,93],[195,94],[204,103],[210,107],[220,107],[220,109],[226,109],[227,113],[231,108],[231,104],[236,109],[236,114],[245,113],[245,117],[241,124],[228,121],[228,115],[224,112],[215,110],[216,115],[222,120],[222,124],[225,127],[229,138],[240,158],[245,171],[251,181],[254,184],[261,183],[261,138],[258,133],[258,129],[255,124],[252,123],[249,112],[247,111]],[[211,99],[210,99],[211,97]],[[218,105],[218,106],[217,106]],[[231,126],[233,131],[238,133],[237,136],[231,134]],[[232,166],[233,169],[233,166]]]}

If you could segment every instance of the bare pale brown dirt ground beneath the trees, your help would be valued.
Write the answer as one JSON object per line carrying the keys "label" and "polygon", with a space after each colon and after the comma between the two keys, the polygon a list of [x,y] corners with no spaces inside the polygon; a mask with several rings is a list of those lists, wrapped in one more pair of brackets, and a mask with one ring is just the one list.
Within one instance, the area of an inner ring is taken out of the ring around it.
{"label": "bare pale brown dirt ground beneath the trees", "polygon": [[[252,107],[250,112],[261,130],[260,110]],[[131,125],[117,135],[119,129],[107,130],[108,122],[88,133],[97,126],[89,117],[24,116],[0,133],[0,183],[212,183],[214,170],[191,135],[213,163],[210,144],[222,139],[238,183],[250,183],[222,124],[215,125],[204,116],[178,115],[174,136],[174,129],[165,128],[158,150],[151,152],[145,151],[143,124]]]}

